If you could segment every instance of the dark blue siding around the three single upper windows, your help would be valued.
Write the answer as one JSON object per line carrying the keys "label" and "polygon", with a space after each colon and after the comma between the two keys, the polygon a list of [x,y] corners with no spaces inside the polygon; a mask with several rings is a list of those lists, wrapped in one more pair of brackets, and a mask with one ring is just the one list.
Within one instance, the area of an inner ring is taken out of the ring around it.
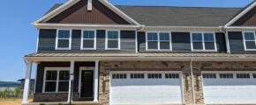
{"label": "dark blue siding around the three single upper windows", "polygon": [[105,50],[105,30],[96,31],[96,50],[80,50],[81,30],[72,30],[72,50],[55,50],[56,29],[41,29],[38,52],[135,52],[135,31],[120,31],[120,50]]}

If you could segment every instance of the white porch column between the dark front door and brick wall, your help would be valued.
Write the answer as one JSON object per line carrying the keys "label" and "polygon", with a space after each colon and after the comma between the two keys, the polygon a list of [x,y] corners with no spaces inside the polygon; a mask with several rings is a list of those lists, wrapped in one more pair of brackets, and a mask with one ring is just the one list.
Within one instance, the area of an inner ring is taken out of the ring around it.
{"label": "white porch column between the dark front door and brick wall", "polygon": [[99,60],[95,61],[94,68],[94,102],[99,102],[98,100],[98,88],[99,88]]}

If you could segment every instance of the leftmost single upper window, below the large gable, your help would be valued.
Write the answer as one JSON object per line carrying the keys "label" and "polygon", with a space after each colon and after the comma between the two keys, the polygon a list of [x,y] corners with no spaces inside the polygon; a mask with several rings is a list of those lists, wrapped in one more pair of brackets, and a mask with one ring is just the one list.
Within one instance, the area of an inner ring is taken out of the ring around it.
{"label": "leftmost single upper window, below the large gable", "polygon": [[71,30],[58,30],[56,32],[56,50],[71,50]]}

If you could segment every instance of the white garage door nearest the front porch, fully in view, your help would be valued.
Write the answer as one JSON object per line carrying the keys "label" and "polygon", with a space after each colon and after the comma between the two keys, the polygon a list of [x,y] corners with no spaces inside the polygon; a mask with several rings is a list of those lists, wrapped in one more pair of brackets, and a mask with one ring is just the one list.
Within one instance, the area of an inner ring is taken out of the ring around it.
{"label": "white garage door nearest the front porch, fully in view", "polygon": [[181,104],[181,72],[111,72],[110,104]]}

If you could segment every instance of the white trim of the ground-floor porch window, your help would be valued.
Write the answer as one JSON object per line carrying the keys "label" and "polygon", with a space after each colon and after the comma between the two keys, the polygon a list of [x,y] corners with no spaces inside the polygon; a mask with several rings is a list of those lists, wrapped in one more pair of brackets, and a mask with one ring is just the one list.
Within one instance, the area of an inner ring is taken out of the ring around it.
{"label": "white trim of the ground-floor porch window", "polygon": [[[68,93],[68,92],[58,92],[58,85],[59,85],[59,71],[68,70],[70,71],[70,67],[45,67],[44,74],[43,74],[43,84],[42,84],[42,93]],[[56,73],[56,90],[55,92],[45,92],[45,82],[46,82],[46,73],[47,71],[57,71]]]}

